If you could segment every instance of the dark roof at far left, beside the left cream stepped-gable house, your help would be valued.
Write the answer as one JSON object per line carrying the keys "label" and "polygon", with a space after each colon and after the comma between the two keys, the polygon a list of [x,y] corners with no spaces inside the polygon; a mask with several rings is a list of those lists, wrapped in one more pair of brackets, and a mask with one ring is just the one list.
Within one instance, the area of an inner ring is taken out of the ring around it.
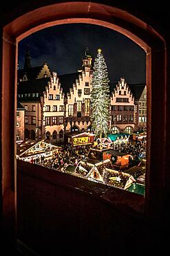
{"label": "dark roof at far left, beside the left cream stepped-gable house", "polygon": [[48,82],[50,82],[50,77],[20,82],[17,86],[17,93],[43,93]]}

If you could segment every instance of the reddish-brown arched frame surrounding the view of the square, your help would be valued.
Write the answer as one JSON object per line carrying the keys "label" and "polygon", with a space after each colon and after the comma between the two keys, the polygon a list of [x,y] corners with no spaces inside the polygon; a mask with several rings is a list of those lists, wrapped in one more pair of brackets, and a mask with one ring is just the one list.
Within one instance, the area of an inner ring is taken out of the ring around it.
{"label": "reddish-brown arched frame surrounding the view of the square", "polygon": [[[164,148],[166,147],[165,113],[166,113],[166,47],[162,37],[145,22],[132,16],[128,12],[119,10],[112,6],[105,6],[100,3],[89,2],[63,2],[50,6],[44,6],[32,10],[18,17],[3,28],[3,62],[2,62],[2,172],[3,172],[3,194],[6,201],[12,201],[15,190],[12,188],[16,181],[13,169],[16,166],[14,158],[14,118],[17,109],[17,50],[18,42],[43,28],[49,26],[68,24],[68,23],[89,23],[105,26],[116,30],[129,37],[142,47],[147,53],[147,186],[145,196],[145,214],[147,216],[155,214],[155,218],[161,212],[160,201],[162,200],[162,185],[164,183]],[[157,76],[157,74],[160,74]],[[160,95],[160,86],[162,94]],[[15,101],[14,101],[15,97]],[[156,113],[154,102],[159,102],[162,111]],[[5,114],[6,113],[6,114]],[[10,120],[10,122],[9,122]],[[153,130],[158,122],[161,122],[160,129]],[[151,132],[152,129],[152,132]],[[159,138],[159,141],[158,141]],[[158,147],[161,156],[156,154],[155,148]],[[11,154],[11,161],[8,161],[8,154]],[[161,172],[160,172],[161,170]],[[159,176],[160,179],[156,179]],[[159,199],[154,199],[155,191],[159,194]],[[14,207],[15,203],[10,204]],[[10,208],[6,205],[6,209]],[[8,209],[9,210],[9,209]],[[6,214],[6,213],[5,213]]]}

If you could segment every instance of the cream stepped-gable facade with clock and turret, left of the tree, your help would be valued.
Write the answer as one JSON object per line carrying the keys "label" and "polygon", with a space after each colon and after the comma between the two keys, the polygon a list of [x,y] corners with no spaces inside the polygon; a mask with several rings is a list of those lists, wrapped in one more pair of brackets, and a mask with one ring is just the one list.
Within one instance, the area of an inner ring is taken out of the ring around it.
{"label": "cream stepped-gable facade with clock and turret, left of the tree", "polygon": [[67,130],[87,131],[90,126],[90,93],[92,91],[92,57],[85,55],[78,79],[67,93]]}

